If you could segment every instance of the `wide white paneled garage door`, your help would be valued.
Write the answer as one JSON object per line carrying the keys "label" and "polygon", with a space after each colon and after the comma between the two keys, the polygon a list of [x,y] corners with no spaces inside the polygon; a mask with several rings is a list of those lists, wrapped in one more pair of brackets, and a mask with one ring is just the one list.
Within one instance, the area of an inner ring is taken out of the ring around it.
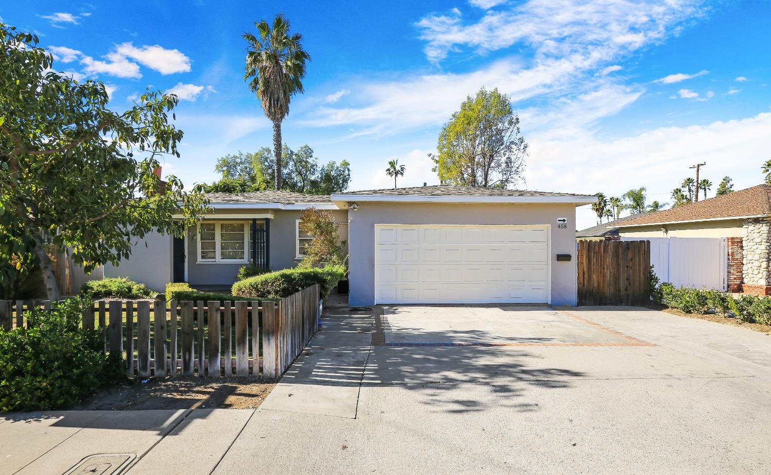
{"label": "wide white paneled garage door", "polygon": [[548,303],[547,226],[375,226],[375,303]]}

